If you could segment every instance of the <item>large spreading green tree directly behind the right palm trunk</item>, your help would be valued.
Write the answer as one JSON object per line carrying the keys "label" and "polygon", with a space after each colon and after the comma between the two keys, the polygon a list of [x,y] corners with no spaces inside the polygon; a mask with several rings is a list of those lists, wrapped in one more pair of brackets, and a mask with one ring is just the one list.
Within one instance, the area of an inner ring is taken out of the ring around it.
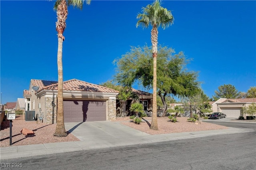
{"label": "large spreading green tree directly behind the right palm trunk", "polygon": [[[182,52],[174,54],[168,47],[159,47],[157,63],[157,94],[163,103],[163,115],[166,115],[166,99],[170,96],[190,96],[199,91],[197,73],[186,69],[187,63]],[[148,46],[132,47],[129,52],[116,59],[117,74],[115,80],[124,86],[132,86],[134,82],[140,83],[146,89],[152,88],[153,63],[151,49]],[[173,101],[173,100],[172,100]]]}

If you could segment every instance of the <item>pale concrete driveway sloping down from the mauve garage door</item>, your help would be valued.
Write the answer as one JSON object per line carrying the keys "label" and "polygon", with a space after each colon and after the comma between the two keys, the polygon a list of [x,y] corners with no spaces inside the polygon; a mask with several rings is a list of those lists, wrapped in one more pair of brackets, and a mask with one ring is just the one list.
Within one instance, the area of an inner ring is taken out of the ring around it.
{"label": "pale concrete driveway sloping down from the mauve garage door", "polygon": [[132,137],[149,135],[118,122],[111,121],[65,123],[65,128],[82,141],[91,140],[97,142],[97,140],[106,140],[106,142],[110,142],[115,140],[117,142],[118,140],[119,142],[125,142]]}

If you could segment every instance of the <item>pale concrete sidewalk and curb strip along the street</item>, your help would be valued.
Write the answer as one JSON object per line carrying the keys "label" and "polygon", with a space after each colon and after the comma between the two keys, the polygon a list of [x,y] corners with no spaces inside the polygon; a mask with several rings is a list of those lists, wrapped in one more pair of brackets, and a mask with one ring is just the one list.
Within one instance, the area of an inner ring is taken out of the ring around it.
{"label": "pale concrete sidewalk and curb strip along the street", "polygon": [[234,134],[242,132],[252,132],[252,129],[245,128],[228,128],[222,130],[205,130],[196,132],[182,132],[171,134],[155,134],[115,138],[113,140],[102,140],[101,142],[93,140],[60,142],[47,144],[34,144],[25,146],[10,146],[0,148],[0,160],[23,158],[30,156],[39,156],[47,154],[58,154],[65,152],[76,152],[90,149],[110,148],[117,146],[129,146],[135,144],[148,144],[154,142],[165,142],[171,140],[180,140],[188,138],[199,138],[204,136],[214,136],[223,134]]}

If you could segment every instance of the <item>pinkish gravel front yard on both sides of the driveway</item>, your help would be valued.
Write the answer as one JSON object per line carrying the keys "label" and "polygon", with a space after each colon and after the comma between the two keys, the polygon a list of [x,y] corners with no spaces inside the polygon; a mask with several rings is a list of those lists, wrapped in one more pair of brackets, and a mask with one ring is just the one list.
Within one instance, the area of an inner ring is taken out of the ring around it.
{"label": "pinkish gravel front yard on both sides of the driveway", "polygon": [[[228,127],[214,125],[200,121],[199,123],[187,122],[187,117],[177,117],[178,122],[170,122],[168,117],[158,117],[158,130],[151,130],[150,123],[151,117],[145,117],[140,125],[136,125],[129,119],[129,117],[118,117],[116,122],[120,122],[128,127],[135,128],[148,134],[166,134],[178,132],[192,132],[201,130],[217,130],[225,129]],[[34,134],[24,135],[20,131],[23,128],[33,130]],[[12,146],[30,145],[30,144],[43,144],[43,143],[56,143],[56,142],[69,142],[79,141],[76,136],[69,133],[66,137],[53,136],[56,124],[47,125],[45,123],[37,123],[36,121],[13,120],[12,122]],[[10,122],[3,121],[0,131],[0,146],[10,146]]]}

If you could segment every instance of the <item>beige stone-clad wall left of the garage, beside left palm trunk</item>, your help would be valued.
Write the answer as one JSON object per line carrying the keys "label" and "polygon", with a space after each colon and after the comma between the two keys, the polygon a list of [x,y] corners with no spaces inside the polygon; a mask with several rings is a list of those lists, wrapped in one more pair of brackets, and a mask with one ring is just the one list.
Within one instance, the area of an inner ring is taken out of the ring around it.
{"label": "beige stone-clad wall left of the garage, beside left palm trunk", "polygon": [[[55,107],[52,107],[52,101],[54,100]],[[56,123],[57,118],[57,99],[52,97],[45,97],[45,113],[44,123],[53,124]]]}

